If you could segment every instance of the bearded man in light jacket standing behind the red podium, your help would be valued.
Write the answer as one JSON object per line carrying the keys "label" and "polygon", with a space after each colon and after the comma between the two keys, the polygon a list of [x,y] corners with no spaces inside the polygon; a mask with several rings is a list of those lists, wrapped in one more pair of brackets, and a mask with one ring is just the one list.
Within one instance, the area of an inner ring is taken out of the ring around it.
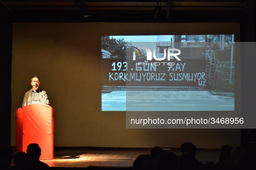
{"label": "bearded man in light jacket standing behind the red podium", "polygon": [[25,93],[22,107],[28,104],[33,104],[33,103],[41,103],[41,104],[49,105],[49,100],[48,100],[46,91],[43,91],[39,88],[39,85],[40,85],[39,77],[38,76],[32,77],[30,83],[32,85],[32,88]]}

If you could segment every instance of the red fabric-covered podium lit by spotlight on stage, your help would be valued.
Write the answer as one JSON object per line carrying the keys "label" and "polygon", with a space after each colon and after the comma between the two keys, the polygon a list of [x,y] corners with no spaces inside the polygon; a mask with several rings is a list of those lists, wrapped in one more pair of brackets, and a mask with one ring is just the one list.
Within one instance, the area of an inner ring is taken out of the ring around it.
{"label": "red fabric-covered podium lit by spotlight on stage", "polygon": [[16,151],[26,152],[27,146],[37,143],[41,148],[41,160],[53,158],[52,107],[45,104],[29,104],[16,110]]}

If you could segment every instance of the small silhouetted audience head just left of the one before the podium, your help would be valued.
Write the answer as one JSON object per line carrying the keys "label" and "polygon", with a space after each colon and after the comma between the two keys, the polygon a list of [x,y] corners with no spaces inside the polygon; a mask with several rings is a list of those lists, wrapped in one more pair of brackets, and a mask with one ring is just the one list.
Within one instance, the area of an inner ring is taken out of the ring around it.
{"label": "small silhouetted audience head just left of the one before the podium", "polygon": [[14,156],[13,163],[16,170],[26,170],[29,164],[29,157],[25,152],[17,152]]}

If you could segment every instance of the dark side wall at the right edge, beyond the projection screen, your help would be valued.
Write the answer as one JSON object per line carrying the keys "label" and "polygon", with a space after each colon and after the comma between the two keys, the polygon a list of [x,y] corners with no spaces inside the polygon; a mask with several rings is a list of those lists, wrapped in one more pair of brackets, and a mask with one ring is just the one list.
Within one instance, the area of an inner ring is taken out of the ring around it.
{"label": "dark side wall at the right edge, beyond the projection screen", "polygon": [[[243,20],[241,21],[241,41],[242,42],[255,42],[256,41],[256,3],[254,0],[250,0],[247,3],[244,13]],[[255,50],[255,49],[254,49]],[[248,55],[249,54],[249,55]],[[256,83],[251,77],[256,77],[256,59],[255,54],[250,55],[250,51],[241,57],[241,110],[243,114],[248,115],[248,120],[254,120],[250,113],[255,113],[256,105],[253,101],[256,98]],[[249,74],[248,74],[249,73]],[[250,76],[248,76],[250,75]],[[251,89],[251,90],[245,90]],[[249,116],[250,114],[250,116]],[[253,128],[253,127],[252,127]],[[241,142],[246,137],[247,129],[241,129]]]}

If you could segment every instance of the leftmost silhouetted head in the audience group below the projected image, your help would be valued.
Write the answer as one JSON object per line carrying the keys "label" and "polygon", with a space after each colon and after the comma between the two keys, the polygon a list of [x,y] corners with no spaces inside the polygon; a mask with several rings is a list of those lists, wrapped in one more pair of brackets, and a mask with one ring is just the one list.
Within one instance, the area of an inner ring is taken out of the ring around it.
{"label": "leftmost silhouetted head in the audience group below the projected image", "polygon": [[149,154],[139,155],[133,162],[133,170],[156,170],[156,161]]}

